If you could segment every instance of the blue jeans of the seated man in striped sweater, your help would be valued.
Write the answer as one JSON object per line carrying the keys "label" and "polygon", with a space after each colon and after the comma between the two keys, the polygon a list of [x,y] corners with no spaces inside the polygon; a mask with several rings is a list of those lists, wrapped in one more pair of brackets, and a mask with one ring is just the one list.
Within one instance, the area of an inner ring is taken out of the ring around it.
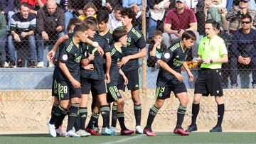
{"label": "blue jeans of the seated man in striped sweater", "polygon": [[23,46],[24,44],[28,44],[28,60],[36,60],[36,40],[35,35],[29,35],[26,38],[21,38],[21,42],[17,43],[14,41],[13,35],[9,35],[8,37],[8,54],[10,60],[16,61],[15,56],[15,46]]}

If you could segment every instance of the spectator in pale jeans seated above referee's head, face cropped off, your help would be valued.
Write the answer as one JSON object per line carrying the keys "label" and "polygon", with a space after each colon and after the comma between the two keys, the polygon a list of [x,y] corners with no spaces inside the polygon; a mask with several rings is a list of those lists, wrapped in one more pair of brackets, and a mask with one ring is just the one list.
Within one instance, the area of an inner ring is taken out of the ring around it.
{"label": "spectator in pale jeans seated above referee's head, face cropped off", "polygon": [[218,7],[219,4],[215,3],[216,2],[214,0],[205,1],[206,20],[213,19],[217,23],[220,23],[220,26],[224,31],[228,31],[228,21],[225,18],[228,11],[225,7]]}

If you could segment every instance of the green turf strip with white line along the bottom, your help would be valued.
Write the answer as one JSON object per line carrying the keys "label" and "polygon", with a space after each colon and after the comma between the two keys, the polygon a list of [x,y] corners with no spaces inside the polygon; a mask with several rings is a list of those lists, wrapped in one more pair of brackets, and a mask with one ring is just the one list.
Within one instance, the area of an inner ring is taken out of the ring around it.
{"label": "green turf strip with white line along the bottom", "polygon": [[85,138],[52,138],[48,134],[0,135],[0,143],[256,143],[256,133],[191,133],[179,136],[174,133],[156,133],[156,137],[146,135],[129,136],[89,136]]}

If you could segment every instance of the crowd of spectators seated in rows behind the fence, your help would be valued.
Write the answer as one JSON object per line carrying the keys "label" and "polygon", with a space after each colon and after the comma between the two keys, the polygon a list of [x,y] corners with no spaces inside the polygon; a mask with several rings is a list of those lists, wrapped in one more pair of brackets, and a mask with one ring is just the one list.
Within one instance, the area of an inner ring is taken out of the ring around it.
{"label": "crowd of spectators seated in rows behind the fence", "polygon": [[[155,44],[156,30],[162,32],[161,43],[167,48],[171,43],[181,40],[183,31],[194,31],[197,40],[191,48],[188,61],[198,57],[198,43],[205,35],[204,21],[214,19],[220,24],[219,36],[225,40],[228,48],[229,62],[223,65],[223,87],[256,87],[255,0],[154,0],[144,1],[145,6],[139,0],[56,0],[57,7],[46,2],[1,0],[1,67],[53,67],[53,62],[46,60],[46,54],[58,38],[68,33],[71,18],[78,17],[83,20],[87,16],[95,17],[97,13],[106,11],[110,13],[108,27],[114,30],[122,26],[120,9],[132,7],[137,13],[135,26],[144,31],[148,49]],[[186,5],[183,11],[182,4]],[[245,15],[252,18],[241,21]],[[195,76],[197,70],[197,67],[192,70]],[[157,72],[155,68],[146,67],[144,73],[152,78],[156,77]],[[147,80],[152,81],[150,83],[156,82],[156,79]],[[193,83],[187,82],[186,85],[193,88]]]}

